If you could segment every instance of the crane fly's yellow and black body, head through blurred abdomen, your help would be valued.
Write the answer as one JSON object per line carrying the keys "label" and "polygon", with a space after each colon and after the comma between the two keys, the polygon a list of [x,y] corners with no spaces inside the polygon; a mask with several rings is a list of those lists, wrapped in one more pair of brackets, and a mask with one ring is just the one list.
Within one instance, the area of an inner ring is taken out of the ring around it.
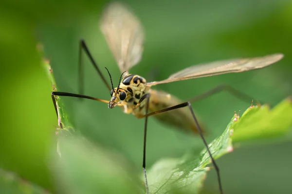
{"label": "crane fly's yellow and black body, head through blurred abdomen", "polygon": [[[139,100],[149,94],[149,112],[156,112],[177,104],[183,103],[179,98],[165,93],[164,91],[153,90],[146,85],[146,79],[135,74],[128,74],[120,82],[119,87],[111,90],[109,107],[121,106],[124,113],[132,113],[137,118],[143,118],[146,114],[146,100],[137,106]],[[171,127],[176,127],[185,132],[198,133],[198,128],[187,107],[175,109],[154,115],[159,121]]]}

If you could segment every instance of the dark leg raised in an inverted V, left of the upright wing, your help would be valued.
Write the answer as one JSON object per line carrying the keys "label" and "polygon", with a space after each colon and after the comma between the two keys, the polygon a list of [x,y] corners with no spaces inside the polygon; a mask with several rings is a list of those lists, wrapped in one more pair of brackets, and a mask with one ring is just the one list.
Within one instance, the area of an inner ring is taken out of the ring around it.
{"label": "dark leg raised in an inverted V, left of the upright wing", "polygon": [[96,62],[94,61],[88,47],[86,46],[85,41],[83,39],[81,39],[79,42],[79,94],[83,94],[83,92],[84,92],[84,88],[83,88],[83,85],[84,85],[84,65],[83,65],[82,50],[84,50],[85,53],[87,54],[87,56],[89,57],[91,64],[94,66],[97,73],[101,77],[102,81],[106,84],[107,88],[109,90],[111,90],[108,81],[105,79],[102,72],[98,68],[98,66],[97,66]]}

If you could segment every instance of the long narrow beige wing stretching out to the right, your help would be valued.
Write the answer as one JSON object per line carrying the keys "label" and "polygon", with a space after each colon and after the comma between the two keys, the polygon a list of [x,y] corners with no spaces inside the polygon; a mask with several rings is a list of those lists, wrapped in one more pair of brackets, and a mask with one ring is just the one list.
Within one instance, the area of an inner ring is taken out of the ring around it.
{"label": "long narrow beige wing stretching out to the right", "polygon": [[220,75],[225,73],[237,73],[242,71],[249,71],[252,69],[259,69],[283,58],[283,54],[277,53],[267,55],[264,57],[246,58],[246,59],[231,59],[224,61],[216,61],[208,64],[193,65],[185,68],[175,74],[172,74],[163,81],[153,81],[146,83],[147,85],[157,85],[161,83],[168,83],[172,81],[188,80],[194,78],[208,77]]}

